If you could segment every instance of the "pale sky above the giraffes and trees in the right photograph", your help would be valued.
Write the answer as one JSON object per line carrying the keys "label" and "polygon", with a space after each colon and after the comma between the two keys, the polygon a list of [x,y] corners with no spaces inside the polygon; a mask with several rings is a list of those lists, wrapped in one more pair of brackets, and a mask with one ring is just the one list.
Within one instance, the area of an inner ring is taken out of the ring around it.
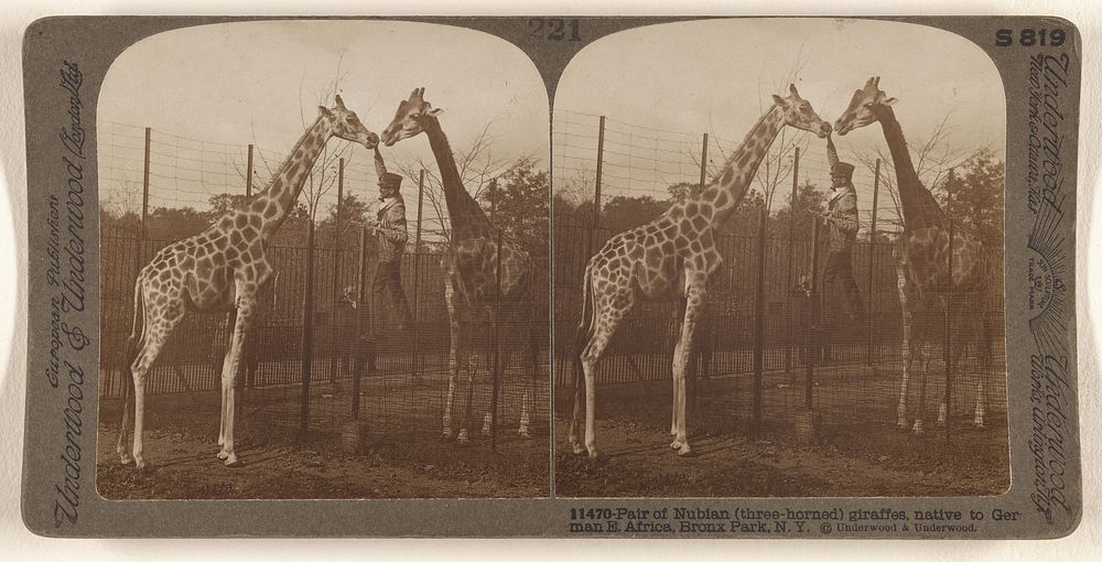
{"label": "pale sky above the giraffes and trees in the right photograph", "polygon": [[[592,167],[586,158],[595,153],[595,116],[604,115],[606,151],[613,152],[605,162],[606,176],[613,175],[603,182],[607,193],[660,198],[666,184],[699,181],[699,167],[684,153],[699,154],[703,133],[713,139],[715,158],[709,160],[722,164],[716,149],[737,147],[771,105],[770,95],[787,95],[789,83],[833,125],[873,75],[898,99],[896,117],[911,144],[949,116],[950,145],[990,145],[1002,158],[1002,80],[971,42],[907,23],[745,19],[639,28],[583,48],[555,93],[552,169],[563,180]],[[879,126],[834,141],[843,159],[876,147],[886,154]],[[810,140],[801,163],[801,177],[825,180],[825,143]],[[867,210],[872,182],[858,171],[854,183]]]}

